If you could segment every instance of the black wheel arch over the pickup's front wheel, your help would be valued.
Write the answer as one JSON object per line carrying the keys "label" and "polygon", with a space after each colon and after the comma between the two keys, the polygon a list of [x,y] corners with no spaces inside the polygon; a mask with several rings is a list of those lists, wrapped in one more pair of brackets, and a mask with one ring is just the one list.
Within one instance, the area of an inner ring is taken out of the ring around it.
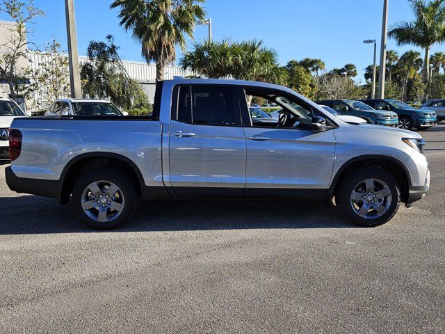
{"label": "black wheel arch over the pickup's front wheel", "polygon": [[334,177],[332,177],[330,188],[325,194],[325,203],[328,205],[332,203],[332,197],[335,195],[341,177],[347,175],[348,170],[360,166],[380,166],[391,173],[391,175],[394,175],[399,186],[401,186],[401,201],[406,202],[410,186],[412,186],[411,174],[407,166],[403,164],[401,160],[394,157],[365,154],[349,159],[339,168]]}

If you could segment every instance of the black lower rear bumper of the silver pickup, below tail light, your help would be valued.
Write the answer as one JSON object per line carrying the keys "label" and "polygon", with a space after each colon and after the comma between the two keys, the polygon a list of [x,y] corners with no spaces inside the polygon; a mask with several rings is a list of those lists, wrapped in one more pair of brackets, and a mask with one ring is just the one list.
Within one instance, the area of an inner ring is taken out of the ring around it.
{"label": "black lower rear bumper of the silver pickup, below tail light", "polygon": [[5,177],[9,189],[17,193],[30,193],[32,195],[60,198],[60,182],[57,180],[18,177],[10,166],[5,169]]}

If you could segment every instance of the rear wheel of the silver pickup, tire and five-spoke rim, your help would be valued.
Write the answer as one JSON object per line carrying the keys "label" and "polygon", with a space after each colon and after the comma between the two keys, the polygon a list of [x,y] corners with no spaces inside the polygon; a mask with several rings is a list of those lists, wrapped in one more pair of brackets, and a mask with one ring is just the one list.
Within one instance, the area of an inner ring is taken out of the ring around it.
{"label": "rear wheel of the silver pickup, tire and five-spoke rim", "polygon": [[120,170],[97,168],[74,182],[71,207],[77,218],[89,228],[119,228],[136,211],[138,193]]}

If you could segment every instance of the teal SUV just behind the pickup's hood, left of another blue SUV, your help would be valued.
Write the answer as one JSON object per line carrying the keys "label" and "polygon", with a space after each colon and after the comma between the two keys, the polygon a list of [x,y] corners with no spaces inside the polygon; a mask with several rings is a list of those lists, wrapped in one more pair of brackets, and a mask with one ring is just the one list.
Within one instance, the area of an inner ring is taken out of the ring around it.
{"label": "teal SUV just behind the pickup's hood, left of another blue SUV", "polygon": [[370,124],[398,127],[397,114],[392,111],[377,111],[371,106],[354,100],[324,100],[318,104],[330,106],[341,115],[356,116],[363,118]]}

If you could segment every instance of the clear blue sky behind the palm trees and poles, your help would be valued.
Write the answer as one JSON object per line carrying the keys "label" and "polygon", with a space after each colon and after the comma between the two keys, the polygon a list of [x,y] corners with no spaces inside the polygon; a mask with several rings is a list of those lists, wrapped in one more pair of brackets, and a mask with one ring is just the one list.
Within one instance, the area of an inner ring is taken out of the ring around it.
{"label": "clear blue sky behind the palm trees and poles", "polygon": [[[74,1],[79,54],[86,54],[90,40],[103,40],[111,33],[123,59],[142,61],[140,47],[119,26],[118,10],[109,9],[111,0]],[[66,50],[65,1],[34,2],[46,15],[35,20],[29,40],[44,45],[56,38]],[[323,59],[328,70],[355,63],[359,71],[357,81],[364,81],[364,67],[372,62],[372,45],[362,41],[380,40],[383,0],[207,0],[204,6],[212,19],[213,39],[264,40],[277,50],[283,65],[305,57]],[[7,17],[0,13],[0,19]],[[410,19],[407,0],[389,0],[389,24]],[[197,26],[195,39],[204,38],[207,26]],[[399,53],[416,49],[396,47],[393,40],[389,40],[388,47]],[[444,49],[444,45],[432,51],[439,49]]]}

